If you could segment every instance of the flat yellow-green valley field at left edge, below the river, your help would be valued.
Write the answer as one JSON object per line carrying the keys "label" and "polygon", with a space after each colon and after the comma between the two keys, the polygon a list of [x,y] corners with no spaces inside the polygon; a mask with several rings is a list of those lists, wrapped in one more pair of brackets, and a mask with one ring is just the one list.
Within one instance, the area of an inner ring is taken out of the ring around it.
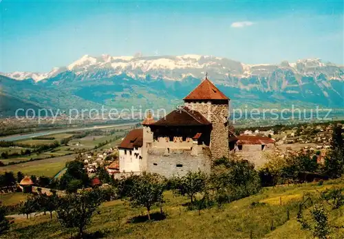
{"label": "flat yellow-green valley field at left edge, below the river", "polygon": [[62,157],[55,157],[51,159],[42,159],[37,161],[30,161],[27,163],[19,163],[10,166],[0,167],[0,173],[21,171],[23,174],[53,177],[60,170],[65,168],[67,161],[72,161],[75,155],[67,155]]}

